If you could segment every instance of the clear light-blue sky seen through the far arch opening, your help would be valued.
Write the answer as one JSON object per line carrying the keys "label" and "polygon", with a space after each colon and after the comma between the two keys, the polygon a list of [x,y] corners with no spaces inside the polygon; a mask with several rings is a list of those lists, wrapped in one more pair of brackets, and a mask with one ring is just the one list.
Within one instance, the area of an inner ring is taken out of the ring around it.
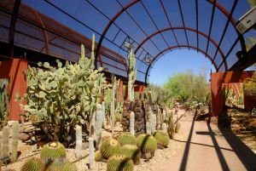
{"label": "clear light-blue sky seen through the far arch opening", "polygon": [[176,49],[154,63],[150,71],[149,83],[163,84],[173,74],[186,70],[193,70],[197,74],[202,68],[207,69],[207,79],[210,77],[211,68],[215,71],[211,61],[205,55],[194,50]]}

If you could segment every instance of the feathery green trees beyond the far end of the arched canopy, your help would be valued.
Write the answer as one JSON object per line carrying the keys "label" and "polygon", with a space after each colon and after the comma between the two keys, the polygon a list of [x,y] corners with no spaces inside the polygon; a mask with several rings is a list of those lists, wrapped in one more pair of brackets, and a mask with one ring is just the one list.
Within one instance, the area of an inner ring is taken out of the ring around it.
{"label": "feathery green trees beyond the far end of the arched canopy", "polygon": [[193,74],[193,71],[177,73],[168,79],[164,88],[169,91],[173,99],[178,99],[182,103],[185,101],[204,102],[210,92],[205,71],[201,71],[199,75]]}

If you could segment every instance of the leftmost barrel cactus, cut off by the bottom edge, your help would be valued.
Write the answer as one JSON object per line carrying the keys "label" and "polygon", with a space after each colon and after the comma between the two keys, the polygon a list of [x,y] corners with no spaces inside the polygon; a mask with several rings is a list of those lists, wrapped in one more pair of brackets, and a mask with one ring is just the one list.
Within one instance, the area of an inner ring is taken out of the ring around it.
{"label": "leftmost barrel cactus, cut off by the bottom edge", "polygon": [[43,171],[44,163],[39,158],[31,158],[24,162],[20,171]]}

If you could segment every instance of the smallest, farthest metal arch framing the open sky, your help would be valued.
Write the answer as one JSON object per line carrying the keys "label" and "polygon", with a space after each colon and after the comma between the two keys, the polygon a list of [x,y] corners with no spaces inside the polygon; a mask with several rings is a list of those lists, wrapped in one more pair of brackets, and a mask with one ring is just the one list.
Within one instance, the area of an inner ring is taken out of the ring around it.
{"label": "smallest, farthest metal arch framing the open sky", "polygon": [[156,60],[156,59],[160,56],[160,54],[166,52],[167,50],[172,50],[173,48],[194,48],[195,50],[198,50],[198,51],[201,52],[202,54],[205,54],[205,55],[207,56],[207,58],[212,61],[212,65],[215,67],[216,71],[218,71],[218,66],[217,66],[216,63],[212,60],[212,57],[211,57],[209,54],[207,54],[206,51],[202,50],[201,48],[196,48],[196,47],[194,47],[194,46],[190,46],[190,45],[187,45],[187,44],[183,44],[183,45],[177,45],[177,46],[171,46],[171,47],[169,47],[169,48],[165,48],[165,49],[163,49],[159,54],[156,54],[156,55],[155,55],[154,59],[153,59],[152,62],[149,64],[148,69],[147,69],[147,71],[146,71],[145,83],[147,83],[148,71],[149,71],[149,68],[151,67],[151,65],[154,63],[154,60]]}

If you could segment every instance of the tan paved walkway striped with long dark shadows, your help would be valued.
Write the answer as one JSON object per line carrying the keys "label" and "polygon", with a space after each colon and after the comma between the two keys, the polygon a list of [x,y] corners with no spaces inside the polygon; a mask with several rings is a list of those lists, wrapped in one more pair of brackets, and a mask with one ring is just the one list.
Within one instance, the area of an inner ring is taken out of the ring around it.
{"label": "tan paved walkway striped with long dark shadows", "polygon": [[181,118],[181,133],[183,146],[160,171],[256,171],[256,155],[229,129],[186,116]]}

